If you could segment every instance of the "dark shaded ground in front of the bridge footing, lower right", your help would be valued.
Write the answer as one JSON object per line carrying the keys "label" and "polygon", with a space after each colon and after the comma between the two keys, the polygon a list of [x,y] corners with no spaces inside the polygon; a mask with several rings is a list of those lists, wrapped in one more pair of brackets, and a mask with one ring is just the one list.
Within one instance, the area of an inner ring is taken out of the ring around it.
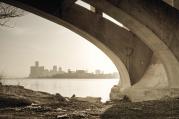
{"label": "dark shaded ground in front of the bridge footing, lower right", "polygon": [[145,102],[116,102],[102,119],[179,119],[179,98]]}

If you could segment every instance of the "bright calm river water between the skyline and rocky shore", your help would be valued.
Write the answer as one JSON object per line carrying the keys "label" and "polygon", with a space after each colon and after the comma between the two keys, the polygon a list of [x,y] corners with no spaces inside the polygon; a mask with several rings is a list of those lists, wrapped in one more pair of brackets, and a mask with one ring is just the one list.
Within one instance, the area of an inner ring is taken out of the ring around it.
{"label": "bright calm river water between the skyline and rocky shore", "polygon": [[109,100],[113,85],[119,79],[4,79],[4,85],[21,85],[27,89],[43,91],[51,94],[60,93],[62,96],[71,97],[101,97],[102,102]]}

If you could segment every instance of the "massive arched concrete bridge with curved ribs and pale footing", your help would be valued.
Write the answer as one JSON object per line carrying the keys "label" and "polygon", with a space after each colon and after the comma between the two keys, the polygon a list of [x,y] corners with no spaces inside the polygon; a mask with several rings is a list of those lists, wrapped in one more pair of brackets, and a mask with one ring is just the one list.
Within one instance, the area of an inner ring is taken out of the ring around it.
{"label": "massive arched concrete bridge with curved ribs and pale footing", "polygon": [[82,0],[91,9],[77,0],[1,1],[63,25],[106,53],[121,78],[111,100],[179,95],[178,0]]}

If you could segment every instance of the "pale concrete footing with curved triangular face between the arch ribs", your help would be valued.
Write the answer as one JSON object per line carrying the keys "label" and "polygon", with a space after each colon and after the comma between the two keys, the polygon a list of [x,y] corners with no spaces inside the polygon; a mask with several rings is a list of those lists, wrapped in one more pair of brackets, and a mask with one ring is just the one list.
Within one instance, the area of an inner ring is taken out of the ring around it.
{"label": "pale concrete footing with curved triangular face between the arch ribs", "polygon": [[139,102],[161,99],[166,96],[172,97],[168,85],[163,64],[158,59],[153,58],[151,65],[138,83],[124,91],[121,91],[119,86],[114,86],[111,89],[110,98],[122,100],[127,95],[131,101]]}

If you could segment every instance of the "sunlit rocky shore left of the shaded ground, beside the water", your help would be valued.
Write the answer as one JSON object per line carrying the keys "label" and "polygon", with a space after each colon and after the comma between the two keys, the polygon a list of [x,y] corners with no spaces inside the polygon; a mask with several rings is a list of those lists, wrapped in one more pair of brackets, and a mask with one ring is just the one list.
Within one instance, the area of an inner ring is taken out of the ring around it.
{"label": "sunlit rocky shore left of the shaded ground, beside the water", "polygon": [[105,106],[88,101],[91,98],[65,98],[22,86],[0,85],[0,119],[96,119]]}

